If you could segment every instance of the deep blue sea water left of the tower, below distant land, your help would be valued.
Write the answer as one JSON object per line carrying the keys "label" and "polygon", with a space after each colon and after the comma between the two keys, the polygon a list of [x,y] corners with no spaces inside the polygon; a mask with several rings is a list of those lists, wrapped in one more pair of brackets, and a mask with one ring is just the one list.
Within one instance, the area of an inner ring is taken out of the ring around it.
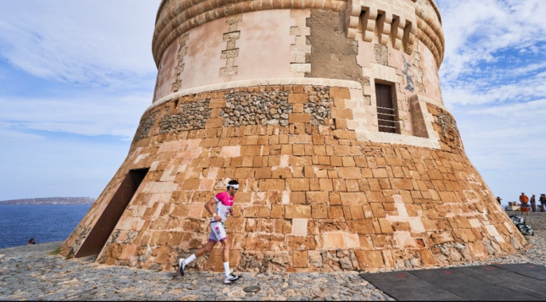
{"label": "deep blue sea water left of the tower, below distant land", "polygon": [[0,249],[62,241],[83,219],[91,204],[0,205]]}

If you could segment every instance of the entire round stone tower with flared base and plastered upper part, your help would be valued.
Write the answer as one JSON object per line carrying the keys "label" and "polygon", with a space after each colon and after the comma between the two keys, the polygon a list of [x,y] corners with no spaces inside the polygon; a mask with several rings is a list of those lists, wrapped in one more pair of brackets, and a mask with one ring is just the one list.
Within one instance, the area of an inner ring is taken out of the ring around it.
{"label": "entire round stone tower with flared base and plastered upper part", "polygon": [[[526,245],[442,103],[433,0],[163,0],[152,48],[151,106],[67,258],[172,271],[231,179],[238,271],[449,266]],[[192,265],[222,270],[221,245]]]}

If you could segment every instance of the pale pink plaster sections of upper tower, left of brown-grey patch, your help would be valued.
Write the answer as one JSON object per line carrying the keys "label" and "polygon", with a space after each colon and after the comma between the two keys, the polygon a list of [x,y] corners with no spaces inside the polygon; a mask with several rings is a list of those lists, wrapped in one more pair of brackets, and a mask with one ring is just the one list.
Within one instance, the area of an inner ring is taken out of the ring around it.
{"label": "pale pink plaster sections of upper tower, left of brown-grey patch", "polygon": [[[292,78],[290,71],[291,45],[294,37],[290,35],[293,24],[290,10],[261,10],[245,13],[237,22],[240,38],[235,42],[239,55],[235,59],[237,74],[231,78],[221,76],[226,67],[222,52],[227,43],[223,40],[228,33],[225,18],[219,18],[195,27],[188,32],[183,59],[180,89],[228,82],[230,80],[251,80],[258,78]],[[158,84],[154,101],[171,94],[176,81],[174,66],[178,65],[179,39],[176,39],[161,60],[158,71]],[[165,67],[167,66],[167,67]]]}

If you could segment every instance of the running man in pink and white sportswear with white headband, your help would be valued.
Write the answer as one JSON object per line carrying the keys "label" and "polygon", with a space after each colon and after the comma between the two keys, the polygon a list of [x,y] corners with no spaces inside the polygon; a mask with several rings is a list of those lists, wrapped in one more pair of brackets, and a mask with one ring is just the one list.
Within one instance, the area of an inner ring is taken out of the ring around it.
{"label": "running man in pink and white sportswear with white headband", "polygon": [[[211,213],[211,234],[209,235],[209,241],[195,251],[190,257],[179,259],[180,275],[184,275],[184,268],[190,264],[191,261],[197,257],[202,256],[205,253],[212,251],[212,248],[218,241],[223,245],[223,261],[225,270],[224,284],[230,284],[239,280],[240,276],[233,275],[230,271],[230,239],[225,230],[225,220],[228,219],[228,215],[233,215],[233,203],[235,201],[235,193],[239,190],[239,182],[237,180],[230,180],[228,182],[228,189],[225,192],[216,194],[211,200],[205,203],[205,209]],[[213,207],[215,210],[213,210]]]}

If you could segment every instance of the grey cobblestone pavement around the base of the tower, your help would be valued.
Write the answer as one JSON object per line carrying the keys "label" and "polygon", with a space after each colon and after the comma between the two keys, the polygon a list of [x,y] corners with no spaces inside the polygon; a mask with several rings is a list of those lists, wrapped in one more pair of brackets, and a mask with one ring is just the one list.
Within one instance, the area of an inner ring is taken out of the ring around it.
{"label": "grey cobblestone pavement around the base of the tower", "polygon": [[[546,265],[546,213],[524,217],[535,231],[535,236],[526,236],[531,243],[526,250],[461,266],[524,262]],[[52,253],[61,243],[0,250],[0,300],[395,301],[356,271],[236,272],[243,278],[233,285],[223,285],[223,273],[218,272],[190,269],[182,278],[174,270],[157,272],[94,264],[94,257],[67,261]],[[244,292],[244,287],[252,285],[260,290]]]}

